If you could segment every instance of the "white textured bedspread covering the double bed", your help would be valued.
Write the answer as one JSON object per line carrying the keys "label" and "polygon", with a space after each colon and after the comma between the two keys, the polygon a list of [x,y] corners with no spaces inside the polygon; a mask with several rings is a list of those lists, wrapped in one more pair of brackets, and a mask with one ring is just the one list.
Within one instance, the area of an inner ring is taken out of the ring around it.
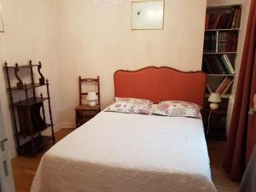
{"label": "white textured bedspread covering the double bed", "polygon": [[44,154],[31,192],[215,192],[201,119],[102,112]]}

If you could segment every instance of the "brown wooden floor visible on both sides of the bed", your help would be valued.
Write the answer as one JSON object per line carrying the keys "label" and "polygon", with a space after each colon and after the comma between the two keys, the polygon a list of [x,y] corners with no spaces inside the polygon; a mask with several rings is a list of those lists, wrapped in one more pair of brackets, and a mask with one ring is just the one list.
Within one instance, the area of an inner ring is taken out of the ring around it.
{"label": "brown wooden floor visible on both sides of the bed", "polygon": [[[67,136],[73,129],[62,129],[55,133],[56,141]],[[209,155],[211,159],[212,179],[218,192],[237,192],[239,183],[230,181],[227,174],[221,168],[224,157],[224,142],[208,142]],[[12,167],[15,177],[16,192],[29,192],[32,179],[37,171],[39,161],[44,152],[32,157],[15,157],[12,160]]]}

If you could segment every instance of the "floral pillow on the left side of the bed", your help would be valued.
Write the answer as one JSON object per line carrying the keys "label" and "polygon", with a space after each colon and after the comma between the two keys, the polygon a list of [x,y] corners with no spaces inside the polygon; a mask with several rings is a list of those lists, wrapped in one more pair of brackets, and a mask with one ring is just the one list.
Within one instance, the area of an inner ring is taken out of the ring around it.
{"label": "floral pillow on the left side of the bed", "polygon": [[106,111],[119,113],[150,113],[152,102],[145,99],[118,98]]}

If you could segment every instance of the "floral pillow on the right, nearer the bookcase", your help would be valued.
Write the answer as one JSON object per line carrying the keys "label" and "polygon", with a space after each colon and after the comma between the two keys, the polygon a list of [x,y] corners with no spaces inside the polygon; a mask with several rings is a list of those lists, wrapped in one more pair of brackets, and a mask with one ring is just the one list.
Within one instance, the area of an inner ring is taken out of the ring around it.
{"label": "floral pillow on the right, nearer the bookcase", "polygon": [[193,102],[165,101],[160,102],[154,114],[171,117],[193,117],[201,118],[201,107]]}

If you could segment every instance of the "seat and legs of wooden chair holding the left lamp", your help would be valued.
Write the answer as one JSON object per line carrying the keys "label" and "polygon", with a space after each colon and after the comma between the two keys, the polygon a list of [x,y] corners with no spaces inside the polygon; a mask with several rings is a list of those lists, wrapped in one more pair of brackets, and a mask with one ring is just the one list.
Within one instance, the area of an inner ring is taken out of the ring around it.
{"label": "seat and legs of wooden chair holding the left lamp", "polygon": [[89,105],[79,105],[77,108],[75,108],[77,128],[100,112],[100,105],[96,105],[95,107],[90,107]]}

